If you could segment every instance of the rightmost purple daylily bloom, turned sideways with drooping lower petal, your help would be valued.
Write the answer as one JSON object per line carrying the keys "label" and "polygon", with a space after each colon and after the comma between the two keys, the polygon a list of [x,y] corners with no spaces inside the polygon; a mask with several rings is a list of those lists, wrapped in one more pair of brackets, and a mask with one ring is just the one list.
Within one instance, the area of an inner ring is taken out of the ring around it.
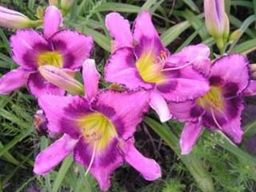
{"label": "rightmost purple daylily bloom, turned sideways with drooping lower petal", "polygon": [[170,102],[174,118],[185,122],[180,138],[182,154],[189,154],[206,126],[221,130],[234,142],[242,141],[242,96],[255,94],[250,81],[249,63],[241,54],[223,56],[214,62],[208,76],[210,90],[202,97],[182,103]]}

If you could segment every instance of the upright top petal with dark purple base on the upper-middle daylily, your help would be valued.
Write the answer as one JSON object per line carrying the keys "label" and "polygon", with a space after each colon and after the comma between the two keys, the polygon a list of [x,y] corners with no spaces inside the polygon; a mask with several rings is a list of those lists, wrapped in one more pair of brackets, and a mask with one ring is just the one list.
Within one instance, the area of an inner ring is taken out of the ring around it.
{"label": "upright top petal with dark purple base on the upper-middle daylily", "polygon": [[138,42],[138,45],[135,46],[135,53],[138,58],[145,51],[153,52],[156,56],[159,56],[161,51],[166,51],[162,46],[157,30],[154,28],[149,12],[143,11],[138,14],[134,22],[134,39]]}

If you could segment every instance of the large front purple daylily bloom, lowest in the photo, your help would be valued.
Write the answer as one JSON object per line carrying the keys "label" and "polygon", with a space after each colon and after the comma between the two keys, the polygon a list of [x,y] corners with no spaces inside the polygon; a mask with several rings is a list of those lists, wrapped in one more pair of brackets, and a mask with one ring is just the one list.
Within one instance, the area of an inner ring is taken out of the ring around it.
{"label": "large front purple daylily bloom, lowest in the photo", "polygon": [[98,91],[99,74],[92,60],[83,64],[82,75],[86,98],[46,94],[38,99],[48,129],[63,136],[38,154],[34,173],[50,172],[73,153],[104,191],[110,187],[110,174],[124,162],[147,180],[159,178],[158,163],[134,147],[134,131],[147,110],[146,92]]}

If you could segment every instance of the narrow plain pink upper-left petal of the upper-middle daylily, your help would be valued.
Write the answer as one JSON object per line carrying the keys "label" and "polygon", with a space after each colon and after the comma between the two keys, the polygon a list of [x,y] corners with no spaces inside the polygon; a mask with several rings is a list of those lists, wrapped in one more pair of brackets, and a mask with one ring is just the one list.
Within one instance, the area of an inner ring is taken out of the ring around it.
{"label": "narrow plain pink upper-left petal of the upper-middle daylily", "polygon": [[[128,46],[133,47],[134,38],[130,31],[130,23],[118,13],[106,15],[106,28],[114,38],[114,50]],[[113,52],[114,52],[113,50]]]}

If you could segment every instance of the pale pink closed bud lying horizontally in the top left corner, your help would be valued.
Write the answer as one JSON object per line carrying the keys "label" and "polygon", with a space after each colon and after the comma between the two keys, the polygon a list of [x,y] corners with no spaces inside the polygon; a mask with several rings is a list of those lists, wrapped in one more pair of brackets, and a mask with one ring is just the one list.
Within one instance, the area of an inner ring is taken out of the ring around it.
{"label": "pale pink closed bud lying horizontally in the top left corner", "polygon": [[42,21],[32,21],[26,15],[0,6],[0,26],[11,29],[22,29],[42,25]]}

